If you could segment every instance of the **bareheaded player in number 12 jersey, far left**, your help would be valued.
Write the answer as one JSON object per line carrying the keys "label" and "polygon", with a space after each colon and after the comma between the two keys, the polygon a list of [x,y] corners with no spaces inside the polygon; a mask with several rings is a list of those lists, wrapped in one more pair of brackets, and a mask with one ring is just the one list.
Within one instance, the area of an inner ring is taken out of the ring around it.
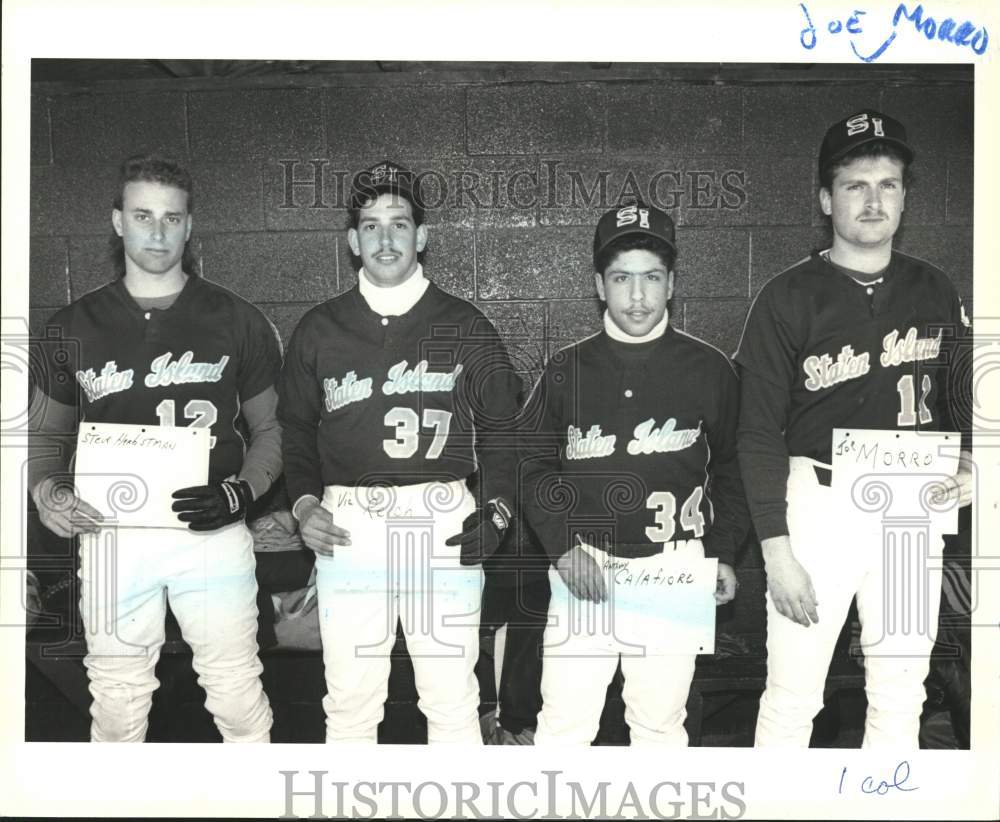
{"label": "bareheaded player in number 12 jersey, far left", "polygon": [[[32,400],[30,487],[42,523],[80,537],[95,742],[145,738],[168,600],[223,739],[270,735],[253,539],[243,519],[281,472],[280,342],[256,308],[199,276],[188,246],[191,192],[175,162],[134,156],[122,164],[111,213],[120,277],[58,311],[50,325],[59,341],[40,351],[47,378]],[[81,417],[211,431],[208,483],[173,494],[176,528],[104,527],[76,496],[52,454]]]}

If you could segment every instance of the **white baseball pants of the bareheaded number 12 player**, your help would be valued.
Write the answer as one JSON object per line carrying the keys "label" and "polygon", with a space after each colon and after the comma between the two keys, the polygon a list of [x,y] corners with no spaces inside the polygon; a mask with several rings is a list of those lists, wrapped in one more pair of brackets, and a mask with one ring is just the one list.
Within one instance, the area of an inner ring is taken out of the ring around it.
{"label": "white baseball pants of the bareheaded number 12 player", "polygon": [[223,740],[270,740],[254,567],[242,522],[207,533],[108,528],[80,537],[93,742],[145,739],[168,600]]}

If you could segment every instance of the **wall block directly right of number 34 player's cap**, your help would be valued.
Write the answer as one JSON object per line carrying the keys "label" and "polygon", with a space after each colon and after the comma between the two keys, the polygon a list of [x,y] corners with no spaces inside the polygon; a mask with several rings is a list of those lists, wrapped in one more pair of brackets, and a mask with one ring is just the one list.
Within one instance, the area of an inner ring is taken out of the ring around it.
{"label": "wall block directly right of number 34 player's cap", "polygon": [[681,228],[674,300],[746,297],[750,291],[750,233],[746,229]]}

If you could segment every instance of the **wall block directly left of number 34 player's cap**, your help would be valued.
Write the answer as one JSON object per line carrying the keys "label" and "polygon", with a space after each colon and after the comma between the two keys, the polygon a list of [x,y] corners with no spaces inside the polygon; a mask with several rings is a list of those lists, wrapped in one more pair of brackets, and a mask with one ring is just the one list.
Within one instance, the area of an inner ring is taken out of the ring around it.
{"label": "wall block directly left of number 34 player's cap", "polygon": [[594,293],[589,228],[476,232],[478,298],[589,297]]}

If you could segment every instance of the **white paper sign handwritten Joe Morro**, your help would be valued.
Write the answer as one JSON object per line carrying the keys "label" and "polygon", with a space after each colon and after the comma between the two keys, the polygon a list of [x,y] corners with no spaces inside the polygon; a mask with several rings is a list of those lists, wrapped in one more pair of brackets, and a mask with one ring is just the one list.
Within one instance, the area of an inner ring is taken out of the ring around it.
{"label": "white paper sign handwritten Joe Morro", "polygon": [[835,428],[832,488],[841,510],[868,528],[911,519],[954,533],[958,503],[942,494],[960,448],[960,436],[948,431]]}

